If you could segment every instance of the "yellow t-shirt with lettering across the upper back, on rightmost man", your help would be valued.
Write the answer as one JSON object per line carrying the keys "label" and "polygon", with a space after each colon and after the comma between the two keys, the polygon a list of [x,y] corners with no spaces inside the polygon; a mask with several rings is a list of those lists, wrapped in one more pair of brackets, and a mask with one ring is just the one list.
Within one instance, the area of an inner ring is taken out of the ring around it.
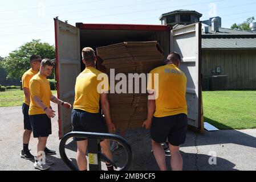
{"label": "yellow t-shirt with lettering across the upper back, on rightmost man", "polygon": [[[154,83],[156,82],[156,80],[154,81],[154,73],[159,74],[159,94],[156,98],[156,111],[154,116],[160,118],[182,113],[188,114],[185,74],[174,64],[167,64],[155,68],[150,73],[152,76],[148,77],[147,89],[153,90],[154,92],[157,92],[157,89],[154,88]],[[152,86],[150,86],[150,83],[152,83]]]}

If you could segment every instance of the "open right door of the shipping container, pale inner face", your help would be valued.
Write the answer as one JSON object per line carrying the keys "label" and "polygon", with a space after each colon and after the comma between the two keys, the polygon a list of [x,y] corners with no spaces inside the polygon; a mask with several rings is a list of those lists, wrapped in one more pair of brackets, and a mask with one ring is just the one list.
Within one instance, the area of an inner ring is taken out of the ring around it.
{"label": "open right door of the shipping container, pale inner face", "polygon": [[194,23],[170,32],[170,50],[180,53],[181,70],[188,83],[186,102],[188,123],[193,129],[204,132],[201,95],[201,23]]}

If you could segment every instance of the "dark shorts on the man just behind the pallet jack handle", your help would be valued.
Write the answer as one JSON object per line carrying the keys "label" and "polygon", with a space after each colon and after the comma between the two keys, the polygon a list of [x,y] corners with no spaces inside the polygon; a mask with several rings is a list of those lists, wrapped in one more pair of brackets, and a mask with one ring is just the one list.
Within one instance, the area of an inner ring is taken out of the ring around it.
{"label": "dark shorts on the man just behind the pallet jack handle", "polygon": [[[87,111],[72,110],[73,131],[108,133],[107,125],[101,113],[88,113]],[[75,141],[83,141],[83,138],[74,138]]]}

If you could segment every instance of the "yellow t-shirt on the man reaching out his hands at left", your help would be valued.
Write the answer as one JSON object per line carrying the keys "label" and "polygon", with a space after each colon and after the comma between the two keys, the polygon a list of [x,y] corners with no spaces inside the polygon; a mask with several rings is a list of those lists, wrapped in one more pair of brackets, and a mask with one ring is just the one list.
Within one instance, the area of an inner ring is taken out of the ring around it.
{"label": "yellow t-shirt on the man reaching out his hands at left", "polygon": [[51,100],[51,88],[50,83],[41,75],[36,74],[30,80],[29,84],[30,89],[30,107],[29,107],[29,115],[37,115],[37,114],[46,114],[45,111],[38,106],[34,101],[34,96],[38,96],[46,107],[50,107]]}

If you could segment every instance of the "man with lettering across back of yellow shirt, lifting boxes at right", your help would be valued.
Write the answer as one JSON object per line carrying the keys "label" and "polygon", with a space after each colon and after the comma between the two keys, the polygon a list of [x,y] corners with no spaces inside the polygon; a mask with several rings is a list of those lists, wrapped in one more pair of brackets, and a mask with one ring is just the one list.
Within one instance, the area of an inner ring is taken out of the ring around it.
{"label": "man with lettering across back of yellow shirt, lifting boxes at right", "polygon": [[168,55],[166,65],[153,69],[148,78],[148,118],[143,126],[151,129],[153,153],[162,171],[167,169],[161,146],[166,139],[169,142],[172,170],[181,171],[183,166],[180,145],[186,139],[188,111],[186,76],[179,69],[180,63],[180,55],[172,52]]}

